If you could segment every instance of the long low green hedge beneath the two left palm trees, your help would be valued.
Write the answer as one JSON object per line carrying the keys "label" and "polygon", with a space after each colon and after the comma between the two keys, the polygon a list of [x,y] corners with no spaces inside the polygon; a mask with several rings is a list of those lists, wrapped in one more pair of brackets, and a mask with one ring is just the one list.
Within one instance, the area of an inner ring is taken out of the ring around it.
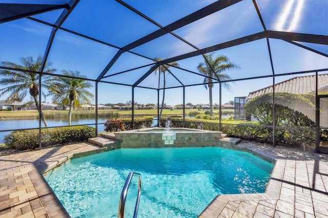
{"label": "long low green hedge beneath the two left palm trees", "polygon": [[[14,131],[5,136],[5,144],[17,150],[35,149],[39,147],[38,129]],[[42,129],[42,146],[86,141],[95,137],[95,128],[90,126],[69,126]]]}

